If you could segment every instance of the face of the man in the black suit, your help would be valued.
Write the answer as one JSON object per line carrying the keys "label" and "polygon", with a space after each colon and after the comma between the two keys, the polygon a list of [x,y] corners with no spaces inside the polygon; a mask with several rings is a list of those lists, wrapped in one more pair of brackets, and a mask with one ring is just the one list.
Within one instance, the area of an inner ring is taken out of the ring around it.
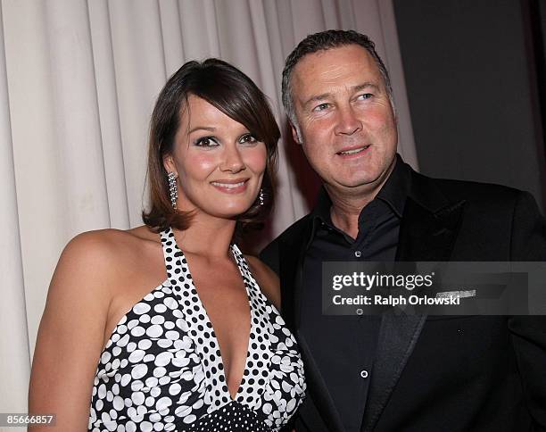
{"label": "face of the man in the black suit", "polygon": [[[397,132],[381,72],[361,46],[305,55],[292,73],[303,152],[327,189],[372,192],[393,167]],[[294,139],[298,141],[293,128]]]}

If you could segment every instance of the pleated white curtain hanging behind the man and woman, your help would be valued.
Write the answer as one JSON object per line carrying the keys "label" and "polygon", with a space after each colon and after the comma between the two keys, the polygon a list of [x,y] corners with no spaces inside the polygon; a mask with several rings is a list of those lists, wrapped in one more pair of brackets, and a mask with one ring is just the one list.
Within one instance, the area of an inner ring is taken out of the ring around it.
{"label": "pleated white curtain hanging behind the man and woman", "polygon": [[[399,152],[417,168],[390,0],[1,1],[0,412],[27,411],[63,246],[82,231],[142,223],[148,122],[170,74],[191,59],[234,63],[269,96],[286,133],[285,56],[323,29],[376,41],[393,78]],[[308,212],[316,183],[296,145],[279,151],[269,238]]]}

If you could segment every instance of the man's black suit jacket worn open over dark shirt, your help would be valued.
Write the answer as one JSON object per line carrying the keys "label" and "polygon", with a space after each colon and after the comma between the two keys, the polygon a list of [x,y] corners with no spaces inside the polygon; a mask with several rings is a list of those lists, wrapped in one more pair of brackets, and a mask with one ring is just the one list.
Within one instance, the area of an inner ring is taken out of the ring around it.
{"label": "man's black suit jacket worn open over dark shirt", "polygon": [[[341,431],[298,331],[310,228],[309,215],[298,220],[261,259],[280,277],[283,316],[305,363],[297,432]],[[528,193],[411,170],[396,260],[546,261],[546,228]],[[546,430],[546,317],[385,315],[368,379],[362,431]]]}

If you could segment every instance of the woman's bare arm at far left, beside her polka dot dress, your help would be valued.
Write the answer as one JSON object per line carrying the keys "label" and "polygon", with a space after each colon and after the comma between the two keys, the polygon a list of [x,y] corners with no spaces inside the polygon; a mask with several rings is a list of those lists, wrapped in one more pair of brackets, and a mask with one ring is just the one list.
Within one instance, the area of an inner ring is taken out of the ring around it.
{"label": "woman's bare arm at far left, beside her polka dot dress", "polygon": [[108,284],[114,276],[111,259],[103,232],[75,237],[64,249],[49,287],[32,363],[29,413],[56,414],[57,432],[87,430],[110,304]]}

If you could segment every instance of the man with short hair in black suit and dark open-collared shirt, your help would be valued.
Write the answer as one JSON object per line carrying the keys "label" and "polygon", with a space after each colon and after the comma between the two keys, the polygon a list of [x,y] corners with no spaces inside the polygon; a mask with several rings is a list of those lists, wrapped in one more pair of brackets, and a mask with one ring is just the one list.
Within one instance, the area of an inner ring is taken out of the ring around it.
{"label": "man with short hair in black suit and dark open-collared shirt", "polygon": [[543,317],[321,312],[325,261],[546,261],[533,197],[429,179],[402,162],[388,73],[354,31],[294,49],[283,104],[323,183],[315,209],[261,253],[305,361],[296,430],[546,429]]}

